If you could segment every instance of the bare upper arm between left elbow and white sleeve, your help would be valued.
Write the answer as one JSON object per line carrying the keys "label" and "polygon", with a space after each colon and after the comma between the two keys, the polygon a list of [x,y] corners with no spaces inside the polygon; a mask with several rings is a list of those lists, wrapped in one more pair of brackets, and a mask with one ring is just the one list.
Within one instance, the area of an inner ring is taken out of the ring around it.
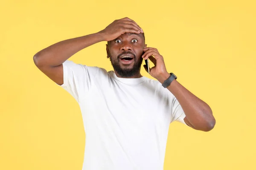
{"label": "bare upper arm between left elbow and white sleeve", "polygon": [[49,77],[52,81],[57,83],[58,85],[63,85],[64,76],[63,76],[63,64],[58,66],[42,66],[38,67],[47,77]]}

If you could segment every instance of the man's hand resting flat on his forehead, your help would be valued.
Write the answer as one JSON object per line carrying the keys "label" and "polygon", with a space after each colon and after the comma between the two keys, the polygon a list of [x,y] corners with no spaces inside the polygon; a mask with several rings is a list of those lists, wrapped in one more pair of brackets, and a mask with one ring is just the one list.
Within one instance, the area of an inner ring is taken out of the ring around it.
{"label": "man's hand resting flat on his forehead", "polygon": [[108,25],[102,31],[99,31],[99,33],[102,34],[105,41],[111,41],[125,33],[142,34],[143,30],[134,22],[134,20],[125,17],[119,20],[114,20],[113,23]]}

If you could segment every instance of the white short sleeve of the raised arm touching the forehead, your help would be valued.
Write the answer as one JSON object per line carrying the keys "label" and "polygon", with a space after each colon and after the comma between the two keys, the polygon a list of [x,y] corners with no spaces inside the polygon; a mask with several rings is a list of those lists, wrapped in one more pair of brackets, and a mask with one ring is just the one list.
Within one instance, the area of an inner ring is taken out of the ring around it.
{"label": "white short sleeve of the raised arm touching the forehead", "polygon": [[90,90],[96,77],[98,67],[76,64],[73,61],[63,63],[63,87],[77,102]]}

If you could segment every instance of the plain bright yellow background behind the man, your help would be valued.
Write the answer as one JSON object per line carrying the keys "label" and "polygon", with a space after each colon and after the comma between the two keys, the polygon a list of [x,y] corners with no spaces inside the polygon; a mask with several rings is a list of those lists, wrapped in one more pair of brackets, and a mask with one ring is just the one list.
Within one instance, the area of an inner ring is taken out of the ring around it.
{"label": "plain bright yellow background behind the man", "polygon": [[[253,0],[2,0],[0,170],[81,170],[85,134],[79,105],[32,57],[122,17],[143,28],[167,70],[207,102],[216,118],[207,133],[171,124],[164,169],[256,169],[255,8]],[[105,43],[70,60],[109,71]]]}

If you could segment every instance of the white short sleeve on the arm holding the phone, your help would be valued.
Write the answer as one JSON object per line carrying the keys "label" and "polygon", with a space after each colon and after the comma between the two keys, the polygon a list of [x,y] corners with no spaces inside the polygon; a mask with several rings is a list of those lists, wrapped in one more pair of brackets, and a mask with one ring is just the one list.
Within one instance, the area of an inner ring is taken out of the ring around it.
{"label": "white short sleeve on the arm holding the phone", "polygon": [[186,117],[183,109],[181,108],[181,105],[179,101],[176,99],[175,96],[173,96],[172,100],[172,122],[177,121],[180,123],[183,123],[186,125],[184,122],[184,118]]}

